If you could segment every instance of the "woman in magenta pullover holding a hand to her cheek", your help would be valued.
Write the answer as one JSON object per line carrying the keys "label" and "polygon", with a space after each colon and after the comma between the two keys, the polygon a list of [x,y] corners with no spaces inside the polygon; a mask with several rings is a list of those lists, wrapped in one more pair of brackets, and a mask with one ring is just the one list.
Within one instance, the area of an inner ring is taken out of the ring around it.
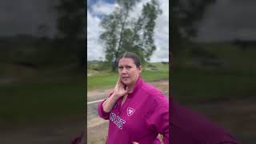
{"label": "woman in magenta pullover holding a hand to her cheek", "polygon": [[118,58],[118,82],[114,91],[98,104],[101,118],[110,120],[106,144],[169,143],[169,102],[164,94],[141,78],[138,55]]}

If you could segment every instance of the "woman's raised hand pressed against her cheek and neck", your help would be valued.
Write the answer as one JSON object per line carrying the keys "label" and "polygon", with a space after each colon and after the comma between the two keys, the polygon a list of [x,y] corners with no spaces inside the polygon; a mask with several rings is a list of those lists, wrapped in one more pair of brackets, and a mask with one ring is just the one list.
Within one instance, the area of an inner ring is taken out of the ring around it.
{"label": "woman's raised hand pressed against her cheek and neck", "polygon": [[124,96],[127,93],[128,93],[128,88],[126,87],[126,85],[124,83],[122,83],[122,80],[119,76],[118,82],[114,86],[113,96],[115,98],[121,98],[122,96]]}

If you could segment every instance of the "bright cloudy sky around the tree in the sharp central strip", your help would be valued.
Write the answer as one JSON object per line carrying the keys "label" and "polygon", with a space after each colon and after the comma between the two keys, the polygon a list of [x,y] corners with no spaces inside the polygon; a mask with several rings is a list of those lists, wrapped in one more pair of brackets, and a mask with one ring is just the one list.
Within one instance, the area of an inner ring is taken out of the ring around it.
{"label": "bright cloudy sky around the tree in the sharp central strip", "polygon": [[[141,14],[142,6],[150,0],[142,0],[138,5],[131,10],[131,18],[138,18],[138,14]],[[154,42],[157,46],[157,50],[150,58],[151,62],[169,61],[169,1],[159,0],[160,7],[162,9],[162,15],[159,15],[156,20],[156,26],[154,30]],[[107,3],[102,0],[94,3],[90,6],[90,10],[87,10],[87,59],[93,60],[99,57],[104,58],[102,46],[98,43],[98,36],[100,27],[98,26],[101,21],[100,15],[110,14],[114,10],[115,3]],[[89,13],[89,14],[88,14]]]}

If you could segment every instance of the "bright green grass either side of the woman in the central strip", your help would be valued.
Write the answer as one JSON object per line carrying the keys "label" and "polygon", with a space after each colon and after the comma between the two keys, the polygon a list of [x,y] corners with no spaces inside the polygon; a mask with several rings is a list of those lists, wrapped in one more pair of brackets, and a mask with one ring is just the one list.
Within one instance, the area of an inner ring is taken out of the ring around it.
{"label": "bright green grass either side of the woman in the central strip", "polygon": [[[146,82],[169,78],[169,66],[162,63],[154,63],[156,70],[142,70],[142,78]],[[88,70],[90,71],[90,70]],[[102,71],[87,77],[87,90],[100,89],[106,86],[114,86],[118,79],[118,72]]]}

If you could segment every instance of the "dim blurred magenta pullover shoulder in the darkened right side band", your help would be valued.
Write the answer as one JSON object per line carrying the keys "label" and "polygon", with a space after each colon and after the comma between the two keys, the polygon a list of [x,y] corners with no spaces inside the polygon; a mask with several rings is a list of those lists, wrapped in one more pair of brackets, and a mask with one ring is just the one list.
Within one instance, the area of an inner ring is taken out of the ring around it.
{"label": "dim blurred magenta pullover shoulder in the darkened right side band", "polygon": [[171,144],[238,144],[222,128],[170,98]]}

